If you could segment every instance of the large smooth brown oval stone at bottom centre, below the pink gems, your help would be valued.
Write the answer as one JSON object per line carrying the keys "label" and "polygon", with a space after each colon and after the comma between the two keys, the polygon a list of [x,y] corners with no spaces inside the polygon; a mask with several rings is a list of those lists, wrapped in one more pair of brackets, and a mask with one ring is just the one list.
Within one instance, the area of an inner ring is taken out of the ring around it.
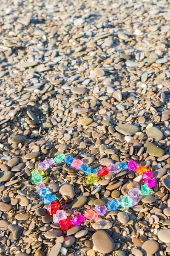
{"label": "large smooth brown oval stone at bottom centre, below the pink gems", "polygon": [[92,240],[95,249],[99,253],[111,253],[115,248],[114,241],[104,230],[96,231],[92,236]]}

